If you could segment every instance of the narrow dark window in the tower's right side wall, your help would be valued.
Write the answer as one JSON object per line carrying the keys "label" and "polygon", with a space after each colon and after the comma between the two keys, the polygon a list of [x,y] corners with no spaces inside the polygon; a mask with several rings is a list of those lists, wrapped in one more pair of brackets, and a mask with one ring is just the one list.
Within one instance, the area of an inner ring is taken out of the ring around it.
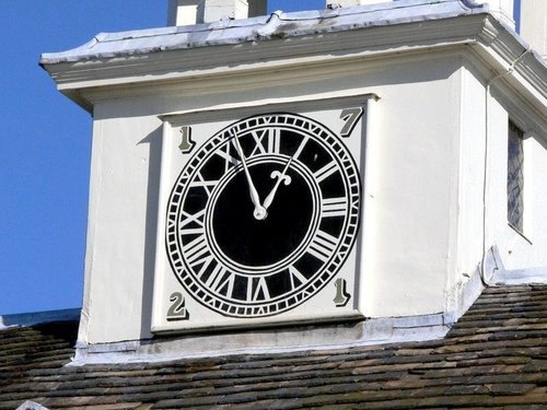
{"label": "narrow dark window in the tower's right side wall", "polygon": [[524,132],[509,121],[508,138],[508,221],[523,232],[524,214]]}

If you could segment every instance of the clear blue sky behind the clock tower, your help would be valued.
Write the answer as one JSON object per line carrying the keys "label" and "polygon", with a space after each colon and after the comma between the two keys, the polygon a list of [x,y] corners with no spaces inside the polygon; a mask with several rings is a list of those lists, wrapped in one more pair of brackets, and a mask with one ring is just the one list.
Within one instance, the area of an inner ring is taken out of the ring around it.
{"label": "clear blue sky behind the clock tower", "polygon": [[[270,0],[271,10],[324,0]],[[92,118],[56,91],[42,52],[101,32],[164,26],[167,0],[14,0],[0,13],[0,315],[80,307]]]}

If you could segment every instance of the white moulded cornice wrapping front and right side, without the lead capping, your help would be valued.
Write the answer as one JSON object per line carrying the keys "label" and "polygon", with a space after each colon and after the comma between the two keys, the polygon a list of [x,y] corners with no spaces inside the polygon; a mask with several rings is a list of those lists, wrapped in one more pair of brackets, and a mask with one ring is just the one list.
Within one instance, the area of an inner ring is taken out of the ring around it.
{"label": "white moulded cornice wrapping front and right side, without the lead capping", "polygon": [[468,46],[492,75],[505,73],[498,86],[510,85],[546,116],[545,62],[515,33],[485,12],[280,37],[43,65],[62,93],[92,110],[94,96],[106,89],[112,95],[117,89],[127,94],[152,84],[195,84],[199,79],[225,81],[291,71],[305,75],[309,68],[321,71],[321,67],[344,65],[348,69],[356,61],[403,59],[416,52]]}

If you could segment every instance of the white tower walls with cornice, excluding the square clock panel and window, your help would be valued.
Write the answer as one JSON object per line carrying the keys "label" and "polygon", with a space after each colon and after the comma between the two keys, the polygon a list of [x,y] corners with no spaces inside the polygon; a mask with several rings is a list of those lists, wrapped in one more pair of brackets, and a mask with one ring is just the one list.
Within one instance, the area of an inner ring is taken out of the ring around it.
{"label": "white tower walls with cornice, excluding the square clock panel and window", "polygon": [[[476,295],[478,278],[491,278],[492,247],[498,269],[547,267],[547,69],[492,15],[164,52],[144,69],[131,63],[138,54],[43,59],[59,89],[93,113],[82,349],[153,336],[165,115],[377,96],[358,242],[368,318],[443,328]],[[524,232],[507,221],[509,120],[525,132]],[[268,331],[274,340],[264,332],[202,338],[225,350],[376,335],[366,320],[339,333]]]}

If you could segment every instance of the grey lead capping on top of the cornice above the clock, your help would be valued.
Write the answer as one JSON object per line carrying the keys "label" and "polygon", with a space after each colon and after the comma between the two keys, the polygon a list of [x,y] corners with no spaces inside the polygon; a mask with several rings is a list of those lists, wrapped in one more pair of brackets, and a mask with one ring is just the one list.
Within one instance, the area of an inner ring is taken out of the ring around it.
{"label": "grey lead capping on top of the cornice above the clock", "polygon": [[384,2],[334,10],[276,12],[270,16],[222,20],[210,24],[102,33],[75,49],[44,54],[40,63],[46,66],[219,45],[259,43],[277,38],[442,20],[487,11],[488,5],[476,4],[473,0],[399,0],[396,3]]}

